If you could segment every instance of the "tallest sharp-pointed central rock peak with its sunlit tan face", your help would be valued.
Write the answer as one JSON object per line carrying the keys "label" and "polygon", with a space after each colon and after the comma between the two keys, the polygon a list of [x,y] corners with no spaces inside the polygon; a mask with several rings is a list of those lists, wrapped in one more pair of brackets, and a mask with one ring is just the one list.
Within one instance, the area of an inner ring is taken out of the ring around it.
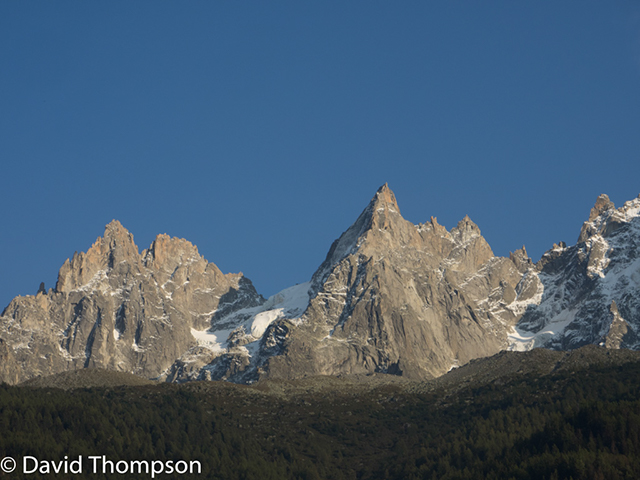
{"label": "tallest sharp-pointed central rock peak with its sunlit tan face", "polygon": [[258,371],[442,375],[505,348],[521,277],[468,217],[414,225],[384,185],[313,275],[304,314],[270,325]]}

